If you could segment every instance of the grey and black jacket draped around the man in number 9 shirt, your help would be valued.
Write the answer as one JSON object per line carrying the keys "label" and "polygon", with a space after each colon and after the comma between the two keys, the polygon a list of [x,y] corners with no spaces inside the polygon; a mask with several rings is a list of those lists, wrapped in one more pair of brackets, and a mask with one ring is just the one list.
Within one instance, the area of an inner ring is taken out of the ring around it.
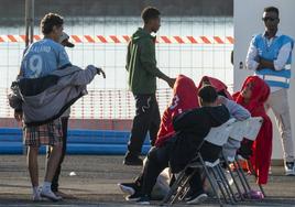
{"label": "grey and black jacket draped around the man in number 9 shirt", "polygon": [[23,111],[26,127],[41,126],[61,117],[70,105],[87,95],[86,85],[97,74],[95,66],[86,69],[69,66],[40,78],[21,78],[12,83],[9,103]]}

